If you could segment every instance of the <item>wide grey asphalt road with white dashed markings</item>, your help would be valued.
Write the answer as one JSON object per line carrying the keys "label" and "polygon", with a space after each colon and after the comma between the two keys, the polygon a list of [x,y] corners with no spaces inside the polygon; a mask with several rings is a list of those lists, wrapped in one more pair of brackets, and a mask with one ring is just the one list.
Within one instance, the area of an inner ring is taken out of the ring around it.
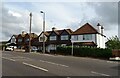
{"label": "wide grey asphalt road with white dashed markings", "polygon": [[2,52],[3,76],[118,76],[119,64],[85,57]]}

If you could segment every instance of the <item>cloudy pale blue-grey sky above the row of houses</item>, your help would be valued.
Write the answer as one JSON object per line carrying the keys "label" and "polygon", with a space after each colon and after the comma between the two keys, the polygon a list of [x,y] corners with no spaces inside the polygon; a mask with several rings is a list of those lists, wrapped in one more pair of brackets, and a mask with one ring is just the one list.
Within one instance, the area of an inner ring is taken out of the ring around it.
{"label": "cloudy pale blue-grey sky above the row of houses", "polygon": [[[1,7],[1,6],[0,6]],[[104,26],[109,38],[118,35],[118,2],[2,2],[1,40],[9,40],[13,34],[29,32],[29,14],[32,12],[32,32],[42,31],[42,14],[46,14],[46,30],[71,28],[73,31],[90,23]],[[0,36],[1,37],[1,36]]]}

